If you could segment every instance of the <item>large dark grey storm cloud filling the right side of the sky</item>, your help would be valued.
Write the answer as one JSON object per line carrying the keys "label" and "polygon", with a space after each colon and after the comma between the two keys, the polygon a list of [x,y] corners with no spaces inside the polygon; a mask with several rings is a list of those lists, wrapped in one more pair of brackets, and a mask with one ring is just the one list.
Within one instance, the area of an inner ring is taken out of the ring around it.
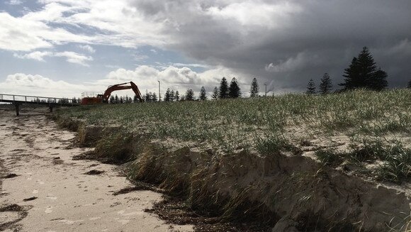
{"label": "large dark grey storm cloud filling the right side of the sky", "polygon": [[259,77],[271,89],[304,89],[329,72],[334,86],[368,46],[391,87],[411,79],[411,1],[134,1],[167,25],[169,48]]}

